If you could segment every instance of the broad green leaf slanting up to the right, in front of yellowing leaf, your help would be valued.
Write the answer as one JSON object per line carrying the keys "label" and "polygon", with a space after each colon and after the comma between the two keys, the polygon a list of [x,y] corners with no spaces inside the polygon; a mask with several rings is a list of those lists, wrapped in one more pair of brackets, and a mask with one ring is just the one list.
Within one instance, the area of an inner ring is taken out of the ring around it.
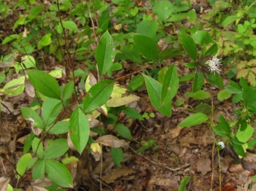
{"label": "broad green leaf slanting up to the right, in front of yellowing leaf", "polygon": [[103,80],[92,86],[84,98],[83,111],[88,113],[105,104],[110,99],[113,88],[113,80]]}

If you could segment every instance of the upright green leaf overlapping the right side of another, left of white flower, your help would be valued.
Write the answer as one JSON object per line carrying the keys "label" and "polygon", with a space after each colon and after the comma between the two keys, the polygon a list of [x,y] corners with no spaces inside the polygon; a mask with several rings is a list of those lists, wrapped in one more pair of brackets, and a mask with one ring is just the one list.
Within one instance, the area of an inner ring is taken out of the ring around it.
{"label": "upright green leaf overlapping the right side of another, left of white flower", "polygon": [[179,88],[179,77],[175,65],[171,65],[163,79],[160,106],[166,105],[176,95]]}

